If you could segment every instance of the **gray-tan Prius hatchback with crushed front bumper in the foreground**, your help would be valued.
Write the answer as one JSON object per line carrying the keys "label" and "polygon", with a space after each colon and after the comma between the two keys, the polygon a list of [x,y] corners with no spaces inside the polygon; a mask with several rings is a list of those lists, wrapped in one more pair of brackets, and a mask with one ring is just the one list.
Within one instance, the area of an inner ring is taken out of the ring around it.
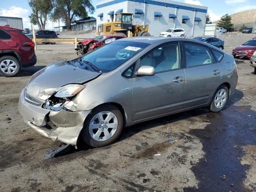
{"label": "gray-tan Prius hatchback with crushed front bumper in the foreground", "polygon": [[139,122],[207,106],[219,112],[237,80],[234,57],[209,44],[124,38],[38,71],[19,111],[39,134],[101,147]]}

